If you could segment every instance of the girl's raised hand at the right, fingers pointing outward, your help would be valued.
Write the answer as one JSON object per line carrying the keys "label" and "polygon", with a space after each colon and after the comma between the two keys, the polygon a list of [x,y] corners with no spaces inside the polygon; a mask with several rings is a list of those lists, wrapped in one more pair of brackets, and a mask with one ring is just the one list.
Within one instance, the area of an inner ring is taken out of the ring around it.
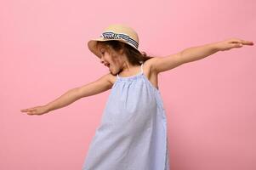
{"label": "girl's raised hand at the right, fingers pointing outward", "polygon": [[238,38],[230,38],[222,42],[217,42],[216,44],[219,51],[230,50],[231,48],[242,48],[242,45],[253,45],[253,42]]}

